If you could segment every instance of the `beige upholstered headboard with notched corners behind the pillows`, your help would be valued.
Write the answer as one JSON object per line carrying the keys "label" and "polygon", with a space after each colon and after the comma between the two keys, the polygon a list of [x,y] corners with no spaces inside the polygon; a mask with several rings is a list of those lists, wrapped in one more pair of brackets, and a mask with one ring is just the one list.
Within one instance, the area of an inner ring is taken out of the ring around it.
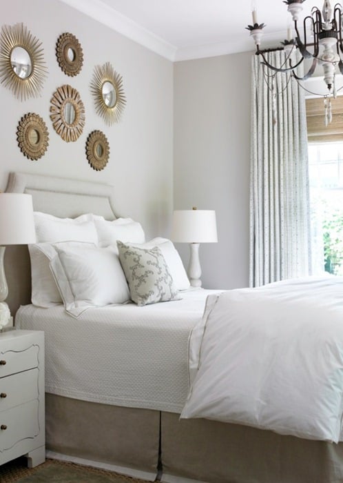
{"label": "beige upholstered headboard with notched corners behind the pillows", "polygon": [[[83,213],[115,219],[114,188],[108,184],[12,172],[6,191],[32,195],[35,211],[74,218]],[[8,298],[12,315],[20,305],[30,304],[31,269],[28,246],[8,246],[5,253]]]}

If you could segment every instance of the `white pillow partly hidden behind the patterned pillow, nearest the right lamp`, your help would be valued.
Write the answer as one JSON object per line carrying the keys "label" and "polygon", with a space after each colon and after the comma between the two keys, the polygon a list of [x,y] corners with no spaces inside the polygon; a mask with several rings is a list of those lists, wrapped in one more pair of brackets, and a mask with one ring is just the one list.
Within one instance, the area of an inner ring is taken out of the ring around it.
{"label": "white pillow partly hidden behind the patterned pillow, nearest the right lamp", "polygon": [[157,237],[149,242],[146,242],[145,244],[130,245],[141,248],[153,248],[154,246],[158,246],[163,254],[163,257],[165,257],[165,262],[167,263],[171,277],[174,279],[176,288],[178,290],[187,290],[187,288],[190,287],[189,279],[187,277],[185,267],[183,266],[183,261],[181,260],[178,250],[176,250],[173,242],[171,242],[169,239]]}

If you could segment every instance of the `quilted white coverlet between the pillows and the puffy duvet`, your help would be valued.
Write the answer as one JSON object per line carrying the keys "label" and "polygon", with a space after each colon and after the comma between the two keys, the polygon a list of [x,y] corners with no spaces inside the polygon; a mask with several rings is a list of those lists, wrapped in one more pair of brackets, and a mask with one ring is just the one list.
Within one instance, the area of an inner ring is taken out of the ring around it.
{"label": "quilted white coverlet between the pillows and the puffy duvet", "polygon": [[89,308],[22,306],[18,328],[45,332],[45,391],[91,402],[180,413],[188,393],[187,344],[207,295],[175,302]]}

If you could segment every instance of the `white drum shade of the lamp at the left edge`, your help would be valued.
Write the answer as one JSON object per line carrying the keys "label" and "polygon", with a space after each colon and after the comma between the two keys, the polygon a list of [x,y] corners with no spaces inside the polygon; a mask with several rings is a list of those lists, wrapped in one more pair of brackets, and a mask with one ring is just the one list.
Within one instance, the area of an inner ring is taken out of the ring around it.
{"label": "white drum shade of the lamp at the left edge", "polygon": [[32,196],[0,193],[0,245],[36,242]]}

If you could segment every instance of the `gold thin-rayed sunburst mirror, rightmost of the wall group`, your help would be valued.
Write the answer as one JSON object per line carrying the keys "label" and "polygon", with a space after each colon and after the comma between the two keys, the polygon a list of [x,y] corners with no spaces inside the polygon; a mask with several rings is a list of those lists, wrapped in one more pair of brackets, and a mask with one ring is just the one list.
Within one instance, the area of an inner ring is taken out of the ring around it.
{"label": "gold thin-rayed sunburst mirror, rightmost of the wall group", "polygon": [[95,110],[103,117],[108,126],[121,119],[126,98],[123,89],[123,79],[110,62],[103,66],[95,66],[90,89],[95,101]]}

